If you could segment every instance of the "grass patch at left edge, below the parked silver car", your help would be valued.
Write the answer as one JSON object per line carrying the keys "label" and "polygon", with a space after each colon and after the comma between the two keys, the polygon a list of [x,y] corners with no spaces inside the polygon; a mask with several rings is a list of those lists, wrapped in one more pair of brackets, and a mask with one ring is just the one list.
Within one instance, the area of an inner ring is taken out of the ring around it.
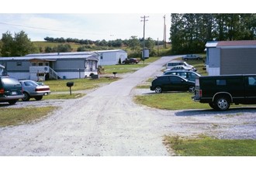
{"label": "grass patch at left edge, below the parked silver car", "polygon": [[52,113],[57,107],[1,108],[0,127],[29,124]]}

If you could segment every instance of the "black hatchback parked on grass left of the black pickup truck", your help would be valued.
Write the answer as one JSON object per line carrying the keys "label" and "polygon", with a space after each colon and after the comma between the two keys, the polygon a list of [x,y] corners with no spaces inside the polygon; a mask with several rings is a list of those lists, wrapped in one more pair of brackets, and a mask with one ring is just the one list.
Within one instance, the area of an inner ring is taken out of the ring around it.
{"label": "black hatchback parked on grass left of the black pickup truck", "polygon": [[176,75],[162,75],[157,76],[156,79],[152,81],[150,90],[154,90],[156,93],[161,93],[163,91],[195,91],[195,82],[186,80],[182,76]]}

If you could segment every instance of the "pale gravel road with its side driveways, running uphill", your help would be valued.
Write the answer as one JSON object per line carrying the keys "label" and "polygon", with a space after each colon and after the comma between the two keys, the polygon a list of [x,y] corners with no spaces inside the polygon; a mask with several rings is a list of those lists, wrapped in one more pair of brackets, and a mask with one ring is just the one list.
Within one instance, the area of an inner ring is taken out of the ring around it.
{"label": "pale gravel road with its side driveways, running uphill", "polygon": [[[134,104],[134,95],[153,93],[134,87],[159,74],[162,66],[173,58],[162,57],[80,99],[27,102],[29,106],[61,108],[33,124],[0,128],[0,155],[166,156],[174,154],[163,144],[165,134],[256,138],[255,108],[216,112],[158,110]],[[1,107],[26,107],[26,104],[18,102]]]}

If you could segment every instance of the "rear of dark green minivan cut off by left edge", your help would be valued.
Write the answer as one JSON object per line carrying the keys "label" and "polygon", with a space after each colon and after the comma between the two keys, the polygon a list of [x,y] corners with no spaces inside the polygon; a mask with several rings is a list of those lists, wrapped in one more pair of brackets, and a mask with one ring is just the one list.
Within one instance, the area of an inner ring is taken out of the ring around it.
{"label": "rear of dark green minivan cut off by left edge", "polygon": [[10,76],[0,76],[0,102],[16,104],[23,97],[19,80]]}

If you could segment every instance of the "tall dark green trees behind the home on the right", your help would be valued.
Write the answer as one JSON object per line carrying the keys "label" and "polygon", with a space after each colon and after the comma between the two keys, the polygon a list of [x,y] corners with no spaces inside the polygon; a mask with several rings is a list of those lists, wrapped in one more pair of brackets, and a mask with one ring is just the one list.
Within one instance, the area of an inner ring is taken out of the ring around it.
{"label": "tall dark green trees behind the home on the right", "polygon": [[256,14],[171,14],[171,52],[202,53],[208,41],[256,39]]}

